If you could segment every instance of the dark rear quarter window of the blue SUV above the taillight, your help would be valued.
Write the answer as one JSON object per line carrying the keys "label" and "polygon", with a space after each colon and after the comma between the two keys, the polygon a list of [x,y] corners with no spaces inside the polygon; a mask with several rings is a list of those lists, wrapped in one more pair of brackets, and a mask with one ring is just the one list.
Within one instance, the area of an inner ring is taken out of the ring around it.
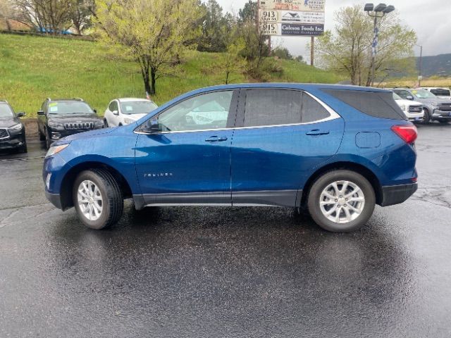
{"label": "dark rear quarter window of the blue SUV above the taillight", "polygon": [[323,91],[367,115],[376,118],[407,120],[391,92],[362,92],[345,89],[323,89]]}

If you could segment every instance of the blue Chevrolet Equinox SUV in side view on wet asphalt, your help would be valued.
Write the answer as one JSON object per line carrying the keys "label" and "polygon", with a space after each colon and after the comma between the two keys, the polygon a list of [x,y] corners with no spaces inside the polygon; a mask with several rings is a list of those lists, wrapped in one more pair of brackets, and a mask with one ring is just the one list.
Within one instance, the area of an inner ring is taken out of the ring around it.
{"label": "blue Chevrolet Equinox SUV in side view on wet asphalt", "polygon": [[190,92],[125,127],[55,142],[47,199],[88,227],[145,206],[307,207],[349,232],[416,191],[416,127],[383,89],[235,84]]}

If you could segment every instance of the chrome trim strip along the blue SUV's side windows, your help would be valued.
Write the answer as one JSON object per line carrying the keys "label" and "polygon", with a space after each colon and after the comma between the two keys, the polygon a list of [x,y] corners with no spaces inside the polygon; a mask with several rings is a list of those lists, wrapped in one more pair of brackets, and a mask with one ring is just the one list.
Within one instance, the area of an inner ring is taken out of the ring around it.
{"label": "chrome trim strip along the blue SUV's side windows", "polygon": [[[280,88],[276,88],[276,89],[280,89]],[[287,88],[287,90],[290,90],[290,88]],[[291,90],[299,90],[299,89],[291,88]],[[327,121],[336,120],[338,118],[341,118],[341,116],[336,111],[334,111],[332,108],[330,108],[330,106],[325,104],[323,101],[318,99],[313,94],[311,94],[309,92],[306,92],[306,91],[304,91],[302,89],[299,90],[299,92],[304,92],[305,94],[309,95],[312,99],[314,99],[316,102],[321,104],[321,106],[323,106],[323,108],[325,108],[326,111],[328,111],[328,113],[330,115],[327,118],[323,118],[321,120],[316,120],[316,121],[312,121],[312,122],[304,122],[304,123],[290,123],[290,124],[285,124],[285,125],[257,125],[257,126],[252,126],[252,127],[228,127],[228,128],[218,128],[218,129],[180,130],[180,131],[173,131],[173,132],[155,132],[155,133],[152,133],[152,132],[139,132],[139,131],[137,131],[141,127],[141,125],[140,125],[140,127],[137,127],[137,129],[134,130],[134,132],[135,132],[135,134],[157,135],[157,134],[180,134],[180,133],[185,133],[185,132],[213,132],[213,131],[221,131],[221,130],[241,130],[241,129],[272,128],[272,127],[290,127],[290,126],[294,126],[294,125],[314,125],[316,123],[323,123],[323,122],[327,122]]]}

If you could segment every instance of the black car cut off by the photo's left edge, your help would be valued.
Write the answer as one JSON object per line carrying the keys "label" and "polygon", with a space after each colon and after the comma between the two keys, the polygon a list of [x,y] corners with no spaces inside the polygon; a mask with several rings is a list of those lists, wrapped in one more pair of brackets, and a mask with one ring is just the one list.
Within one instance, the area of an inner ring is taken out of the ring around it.
{"label": "black car cut off by the photo's left edge", "polygon": [[25,125],[19,119],[23,116],[23,111],[16,114],[7,101],[0,101],[0,150],[27,152]]}

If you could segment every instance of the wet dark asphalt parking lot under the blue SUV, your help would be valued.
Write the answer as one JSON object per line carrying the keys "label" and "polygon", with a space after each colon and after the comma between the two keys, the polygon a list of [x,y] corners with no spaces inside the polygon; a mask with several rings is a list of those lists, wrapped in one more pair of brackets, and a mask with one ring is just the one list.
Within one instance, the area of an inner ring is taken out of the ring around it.
{"label": "wet dark asphalt parking lot under the blue SUV", "polygon": [[351,234],[285,208],[149,208],[85,228],[44,197],[44,147],[0,155],[0,337],[450,337],[451,125],[419,190]]}

